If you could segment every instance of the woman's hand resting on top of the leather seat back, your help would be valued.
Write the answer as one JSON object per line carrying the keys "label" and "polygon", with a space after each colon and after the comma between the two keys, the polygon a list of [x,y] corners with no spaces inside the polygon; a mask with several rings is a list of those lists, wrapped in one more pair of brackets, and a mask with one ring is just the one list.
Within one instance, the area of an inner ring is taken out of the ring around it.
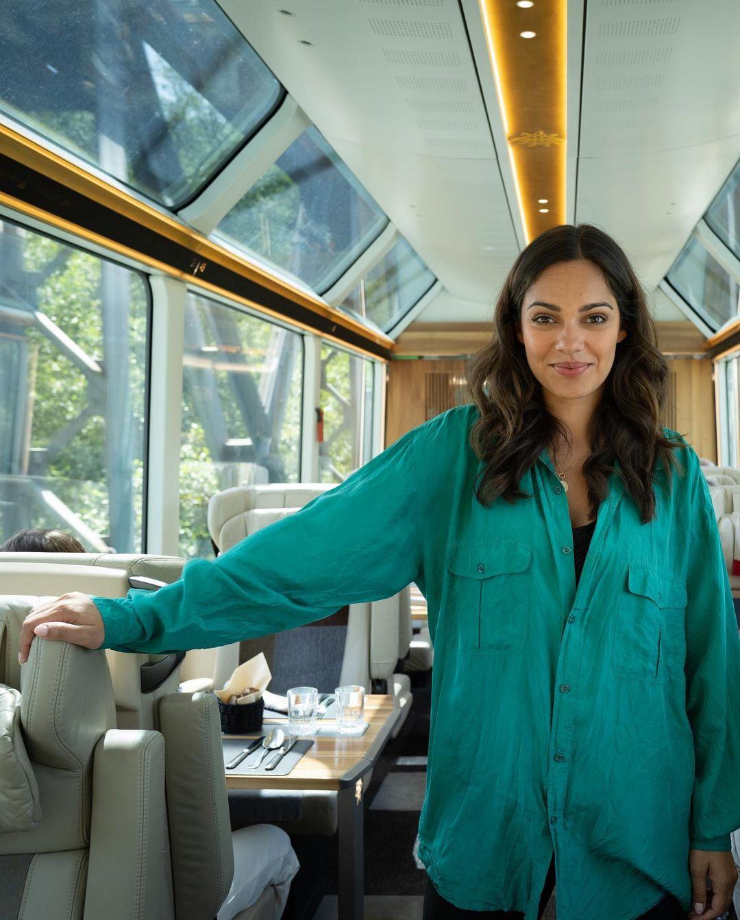
{"label": "woman's hand resting on top of the leather seat back", "polygon": [[87,594],[73,591],[46,604],[40,604],[26,616],[20,630],[18,661],[28,661],[34,636],[62,639],[86,649],[99,649],[105,638],[103,618]]}

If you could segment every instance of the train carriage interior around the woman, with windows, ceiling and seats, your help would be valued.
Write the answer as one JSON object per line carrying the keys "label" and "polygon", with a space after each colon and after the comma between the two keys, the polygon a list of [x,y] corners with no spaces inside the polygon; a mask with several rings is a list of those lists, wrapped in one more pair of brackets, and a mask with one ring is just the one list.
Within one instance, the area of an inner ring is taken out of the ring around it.
{"label": "train carriage interior around the woman, with windows, ceiling and seats", "polygon": [[[0,920],[421,920],[416,584],[214,649],[21,665],[19,631],[178,581],[471,402],[549,227],[639,276],[740,624],[738,35],[734,0],[9,0]],[[304,685],[314,741],[225,769]],[[334,730],[345,686],[363,735]]]}

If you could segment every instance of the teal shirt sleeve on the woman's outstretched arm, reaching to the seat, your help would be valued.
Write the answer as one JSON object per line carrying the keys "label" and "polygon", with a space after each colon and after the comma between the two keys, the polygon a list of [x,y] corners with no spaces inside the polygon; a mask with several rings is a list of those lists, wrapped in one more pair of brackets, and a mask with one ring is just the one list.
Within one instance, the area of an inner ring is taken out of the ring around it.
{"label": "teal shirt sleeve on the woman's outstretched arm, reaching to the seat", "polygon": [[421,565],[416,439],[409,431],[335,489],[157,592],[93,601],[101,648],[179,651],[311,623],[415,581]]}

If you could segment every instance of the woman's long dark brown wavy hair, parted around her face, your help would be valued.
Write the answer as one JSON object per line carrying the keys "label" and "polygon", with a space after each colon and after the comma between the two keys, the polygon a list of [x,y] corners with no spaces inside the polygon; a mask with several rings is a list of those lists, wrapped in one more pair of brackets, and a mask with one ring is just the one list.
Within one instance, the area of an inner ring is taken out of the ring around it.
{"label": "woman's long dark brown wavy hair, parted around her face", "polygon": [[530,498],[517,488],[526,470],[545,448],[552,452],[558,443],[572,446],[565,425],[545,408],[542,387],[516,338],[526,291],[550,265],[572,259],[588,259],[601,269],[619,306],[620,328],[627,329],[595,408],[593,452],[584,463],[591,517],[607,497],[607,477],[619,459],[618,475],[640,506],[642,523],[648,523],[655,512],[657,459],[663,461],[669,488],[672,467],[683,474],[673,454],[683,445],[666,438],[659,421],[668,367],[629,259],[611,236],[590,224],[552,227],[519,254],[496,304],[493,339],[468,361],[469,387],[480,409],[470,443],[485,464],[475,494],[483,505],[500,495],[509,502]]}

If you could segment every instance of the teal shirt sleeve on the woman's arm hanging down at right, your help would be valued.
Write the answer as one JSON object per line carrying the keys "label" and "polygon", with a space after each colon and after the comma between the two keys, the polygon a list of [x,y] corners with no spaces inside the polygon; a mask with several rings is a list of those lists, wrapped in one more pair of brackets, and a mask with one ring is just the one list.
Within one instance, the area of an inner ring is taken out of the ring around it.
{"label": "teal shirt sleeve on the woman's arm hanging down at right", "polygon": [[707,482],[689,450],[687,715],[694,735],[692,849],[729,850],[740,827],[740,635]]}

